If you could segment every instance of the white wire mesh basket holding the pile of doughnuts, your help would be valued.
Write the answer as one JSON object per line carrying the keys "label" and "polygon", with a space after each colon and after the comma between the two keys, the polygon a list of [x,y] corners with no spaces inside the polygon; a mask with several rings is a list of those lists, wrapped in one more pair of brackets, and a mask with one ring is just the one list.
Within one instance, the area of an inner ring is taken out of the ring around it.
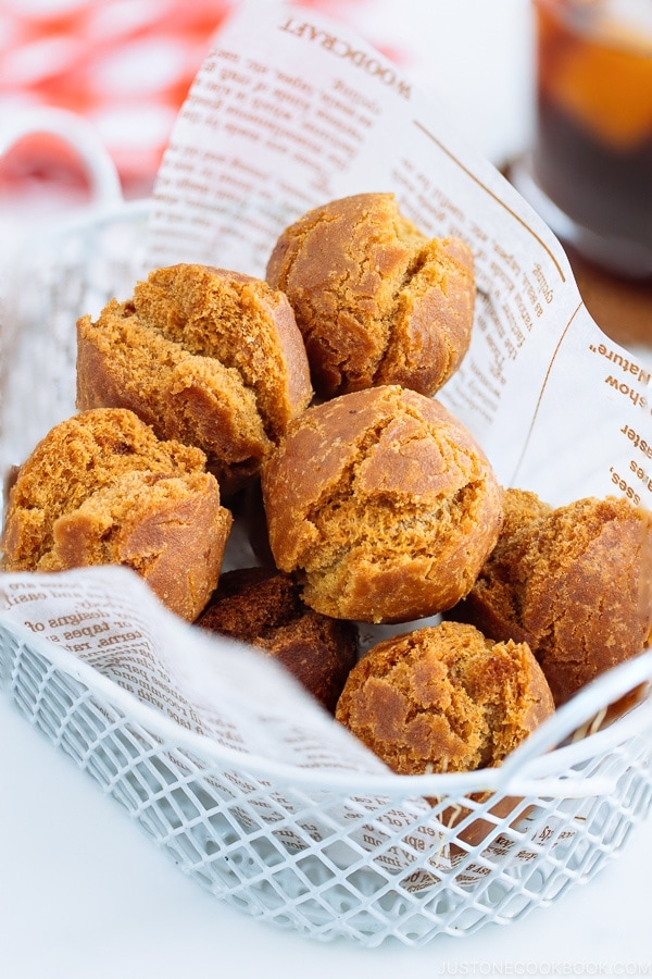
{"label": "white wire mesh basket holding the pile of doughnuts", "polygon": [[[29,288],[5,297],[3,476],[74,412],[75,320],[129,294],[147,213],[109,205],[32,246]],[[590,880],[650,813],[652,701],[591,723],[650,680],[652,652],[587,686],[499,769],[335,774],[189,732],[0,616],[5,695],[181,870],[265,921],[369,946],[515,921]]]}

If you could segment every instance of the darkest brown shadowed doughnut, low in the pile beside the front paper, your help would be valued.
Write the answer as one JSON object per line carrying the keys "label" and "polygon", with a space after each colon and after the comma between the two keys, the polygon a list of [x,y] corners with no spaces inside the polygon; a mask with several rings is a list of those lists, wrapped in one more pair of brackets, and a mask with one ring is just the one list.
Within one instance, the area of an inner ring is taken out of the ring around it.
{"label": "darkest brown shadowed doughnut, low in the pile beside the front paper", "polygon": [[283,571],[227,571],[197,624],[273,657],[331,714],[358,659],[355,625],[309,608]]}

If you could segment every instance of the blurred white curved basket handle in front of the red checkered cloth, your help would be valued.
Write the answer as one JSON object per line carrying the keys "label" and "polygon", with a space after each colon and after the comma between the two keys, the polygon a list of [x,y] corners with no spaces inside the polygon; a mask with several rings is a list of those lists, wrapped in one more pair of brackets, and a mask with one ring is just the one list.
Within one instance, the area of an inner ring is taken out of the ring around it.
{"label": "blurred white curved basket handle in front of the red checkered cloth", "polygon": [[0,157],[26,136],[46,133],[65,142],[80,161],[96,203],[122,203],[117,168],[92,125],[65,109],[41,107],[0,116]]}

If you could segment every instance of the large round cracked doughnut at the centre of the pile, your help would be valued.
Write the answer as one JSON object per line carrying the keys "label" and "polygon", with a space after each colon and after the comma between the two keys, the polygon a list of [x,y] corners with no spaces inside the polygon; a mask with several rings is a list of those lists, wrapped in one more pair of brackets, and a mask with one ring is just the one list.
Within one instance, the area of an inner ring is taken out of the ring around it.
{"label": "large round cracked doughnut at the centre of the pile", "polygon": [[277,567],[336,618],[406,622],[449,608],[502,519],[496,475],[468,431],[399,385],[309,408],[261,484]]}

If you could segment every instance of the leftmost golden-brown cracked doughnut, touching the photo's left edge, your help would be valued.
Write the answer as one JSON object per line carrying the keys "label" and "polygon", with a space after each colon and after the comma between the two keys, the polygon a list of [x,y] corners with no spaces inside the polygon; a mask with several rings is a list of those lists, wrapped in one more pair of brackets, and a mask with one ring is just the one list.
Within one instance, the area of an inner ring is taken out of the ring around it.
{"label": "leftmost golden-brown cracked doughnut, touching the photo's left edge", "polygon": [[193,620],[216,587],[233,522],[204,463],[200,449],[158,439],[125,409],[61,422],[12,485],[2,568],[125,565]]}

